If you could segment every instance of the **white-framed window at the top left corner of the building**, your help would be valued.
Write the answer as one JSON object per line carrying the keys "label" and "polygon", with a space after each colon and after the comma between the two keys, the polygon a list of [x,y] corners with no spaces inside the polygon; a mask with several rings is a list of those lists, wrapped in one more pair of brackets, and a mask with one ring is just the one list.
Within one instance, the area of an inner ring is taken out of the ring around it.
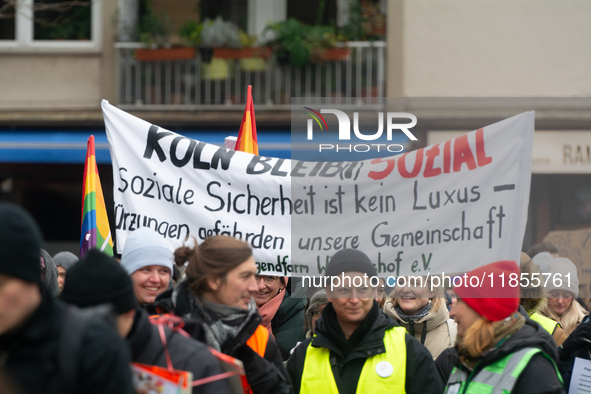
{"label": "white-framed window at the top left corner of the building", "polygon": [[101,1],[0,0],[0,51],[99,51]]}

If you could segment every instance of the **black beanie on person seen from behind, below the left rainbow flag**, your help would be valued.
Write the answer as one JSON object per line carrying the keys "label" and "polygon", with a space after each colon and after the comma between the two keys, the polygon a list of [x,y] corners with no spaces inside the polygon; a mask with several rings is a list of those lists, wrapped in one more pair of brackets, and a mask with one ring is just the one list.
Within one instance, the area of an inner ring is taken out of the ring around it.
{"label": "black beanie on person seen from behind, below the left rainbow flag", "polygon": [[60,299],[81,308],[110,303],[117,314],[137,306],[133,284],[125,269],[98,249],[90,249],[66,272]]}

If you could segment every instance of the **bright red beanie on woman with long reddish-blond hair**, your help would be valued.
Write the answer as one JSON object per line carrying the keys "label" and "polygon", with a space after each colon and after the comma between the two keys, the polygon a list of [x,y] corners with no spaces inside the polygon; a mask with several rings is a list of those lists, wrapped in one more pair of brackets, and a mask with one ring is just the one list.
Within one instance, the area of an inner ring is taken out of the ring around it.
{"label": "bright red beanie on woman with long reddish-blond hair", "polygon": [[[511,274],[517,274],[517,280],[510,281]],[[519,307],[519,274],[515,261],[497,261],[462,275],[462,283],[454,287],[454,292],[480,316],[491,322],[503,320]]]}

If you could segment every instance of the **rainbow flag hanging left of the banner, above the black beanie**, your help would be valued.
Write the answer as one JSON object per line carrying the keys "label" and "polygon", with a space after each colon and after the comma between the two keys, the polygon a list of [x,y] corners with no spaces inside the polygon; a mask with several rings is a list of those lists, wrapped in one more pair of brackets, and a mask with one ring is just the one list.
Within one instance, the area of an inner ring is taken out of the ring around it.
{"label": "rainbow flag hanging left of the banner, above the black beanie", "polygon": [[82,185],[80,258],[91,248],[113,256],[113,240],[94,154],[94,135],[88,138]]}

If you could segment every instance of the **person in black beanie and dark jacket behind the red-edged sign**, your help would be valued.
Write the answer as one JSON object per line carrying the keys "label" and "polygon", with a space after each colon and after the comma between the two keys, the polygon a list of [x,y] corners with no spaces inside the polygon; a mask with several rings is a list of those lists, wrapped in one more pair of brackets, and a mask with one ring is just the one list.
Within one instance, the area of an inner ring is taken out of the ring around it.
{"label": "person in black beanie and dark jacket behind the red-edged sign", "polygon": [[[159,329],[142,308],[137,307],[133,284],[123,267],[114,259],[92,249],[66,274],[62,300],[81,308],[111,304],[118,314],[119,335],[127,338],[132,361],[168,367]],[[218,359],[207,347],[163,327],[166,348],[172,367],[193,373],[193,380],[223,374]],[[193,388],[194,393],[222,394],[232,392],[227,379],[220,379]]]}

